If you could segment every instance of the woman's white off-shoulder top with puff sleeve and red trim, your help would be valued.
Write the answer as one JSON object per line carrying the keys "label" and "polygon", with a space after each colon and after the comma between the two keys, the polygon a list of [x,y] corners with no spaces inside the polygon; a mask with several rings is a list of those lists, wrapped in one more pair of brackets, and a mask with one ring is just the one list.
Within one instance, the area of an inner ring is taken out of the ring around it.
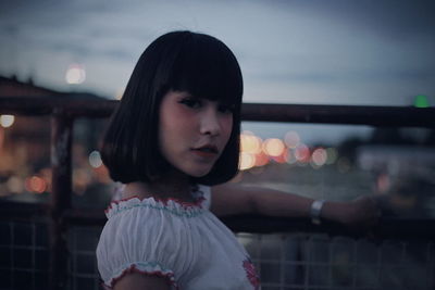
{"label": "woman's white off-shoulder top with puff sleeve and red trim", "polygon": [[97,247],[98,269],[111,289],[137,272],[167,279],[179,290],[258,290],[249,255],[210,209],[210,187],[195,203],[154,198],[114,201]]}

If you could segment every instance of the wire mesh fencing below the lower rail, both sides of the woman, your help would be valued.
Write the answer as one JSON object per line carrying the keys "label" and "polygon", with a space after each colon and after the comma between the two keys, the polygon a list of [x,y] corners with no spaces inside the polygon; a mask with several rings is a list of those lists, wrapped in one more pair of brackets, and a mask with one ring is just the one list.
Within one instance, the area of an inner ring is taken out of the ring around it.
{"label": "wire mesh fencing below the lower rail, both sides of the woman", "polygon": [[[101,227],[67,231],[67,288],[102,289],[95,249]],[[48,223],[0,222],[0,289],[48,289]],[[369,240],[324,234],[237,234],[263,290],[435,288],[432,240]]]}

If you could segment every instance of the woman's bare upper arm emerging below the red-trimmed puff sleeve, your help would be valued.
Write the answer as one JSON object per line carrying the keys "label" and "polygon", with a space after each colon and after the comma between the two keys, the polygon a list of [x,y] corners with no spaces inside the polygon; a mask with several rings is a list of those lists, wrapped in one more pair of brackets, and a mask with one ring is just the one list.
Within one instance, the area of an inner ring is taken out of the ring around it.
{"label": "woman's bare upper arm emerging below the red-trimmed puff sleeve", "polygon": [[113,290],[170,290],[166,279],[159,276],[148,276],[140,273],[129,273],[122,277]]}

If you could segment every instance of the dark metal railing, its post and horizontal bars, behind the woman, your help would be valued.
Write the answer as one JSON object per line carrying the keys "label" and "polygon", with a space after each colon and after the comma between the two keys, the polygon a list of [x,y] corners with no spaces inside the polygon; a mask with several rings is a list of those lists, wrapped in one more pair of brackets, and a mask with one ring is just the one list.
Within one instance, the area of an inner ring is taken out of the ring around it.
{"label": "dark metal railing, its post and horizontal bars, behind the woman", "polygon": [[[0,202],[0,216],[32,219],[47,216],[49,223],[50,282],[49,288],[64,289],[69,275],[69,251],[65,232],[72,225],[103,225],[103,211],[72,207],[72,141],[73,126],[78,117],[109,117],[117,104],[110,100],[86,100],[65,97],[0,98],[0,114],[51,116],[52,192],[49,204]],[[351,124],[394,127],[435,128],[434,108],[349,106],[308,104],[244,103],[243,121],[293,122],[311,124]],[[264,216],[231,216],[223,222],[234,231],[276,232],[304,231],[358,236],[334,223],[313,226],[306,218]],[[289,223],[291,222],[291,223]],[[383,219],[374,234],[384,238],[424,238],[434,240],[433,219]]]}

